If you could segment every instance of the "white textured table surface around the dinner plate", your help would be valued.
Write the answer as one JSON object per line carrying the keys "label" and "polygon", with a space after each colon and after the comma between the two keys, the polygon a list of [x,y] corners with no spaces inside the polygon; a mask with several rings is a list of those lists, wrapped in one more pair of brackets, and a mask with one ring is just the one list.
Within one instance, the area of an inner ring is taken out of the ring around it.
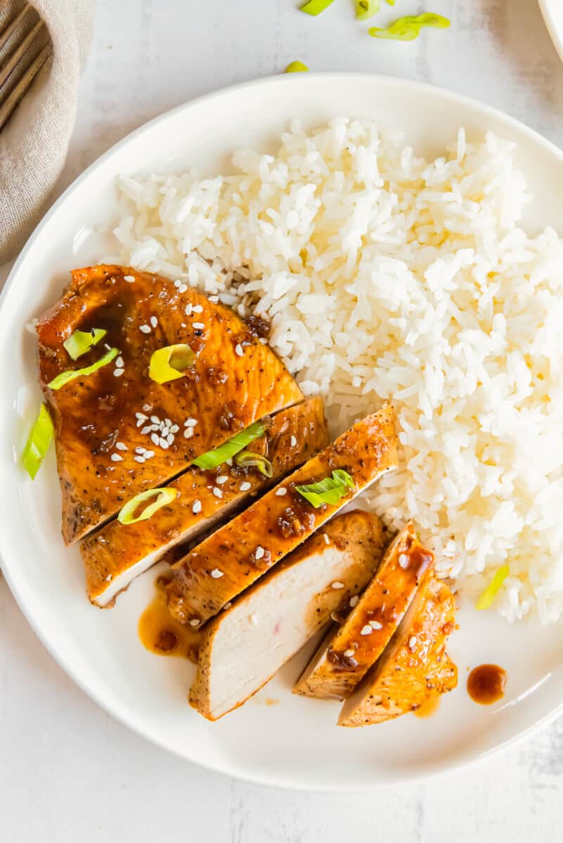
{"label": "white textured table surface around the dinner plate", "polygon": [[[351,0],[336,0],[319,19],[298,13],[297,5],[98,0],[60,190],[150,117],[197,94],[279,72],[297,58],[311,69],[441,84],[563,145],[563,66],[535,0],[433,0],[432,11],[447,14],[452,29],[410,45],[363,35]],[[417,0],[398,6],[400,13],[421,10]],[[7,271],[0,267],[0,283]],[[276,792],[201,771],[89,701],[0,581],[0,843],[144,843],[157,835],[212,843],[560,840],[562,799],[563,719],[468,771],[372,795]]]}

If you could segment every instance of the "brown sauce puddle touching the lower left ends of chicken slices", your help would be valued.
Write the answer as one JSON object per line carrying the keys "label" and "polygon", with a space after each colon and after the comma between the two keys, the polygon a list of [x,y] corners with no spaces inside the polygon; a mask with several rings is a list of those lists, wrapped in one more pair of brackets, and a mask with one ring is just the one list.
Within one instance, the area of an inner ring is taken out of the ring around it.
{"label": "brown sauce puddle touching the lower left ends of chicken slices", "polygon": [[142,646],[158,656],[180,656],[197,661],[201,632],[179,624],[166,605],[165,588],[169,577],[158,577],[156,594],[139,618],[138,634]]}

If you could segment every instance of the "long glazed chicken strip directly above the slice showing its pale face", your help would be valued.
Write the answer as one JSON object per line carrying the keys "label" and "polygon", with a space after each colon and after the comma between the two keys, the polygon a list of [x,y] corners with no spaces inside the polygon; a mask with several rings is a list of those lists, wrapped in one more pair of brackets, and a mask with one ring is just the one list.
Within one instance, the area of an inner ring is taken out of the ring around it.
{"label": "long glazed chicken strip directly above the slice showing its pale face", "polygon": [[[385,407],[359,421],[176,562],[168,588],[170,612],[180,623],[205,623],[357,494],[396,467],[394,412]],[[296,491],[296,486],[318,482],[337,469],[346,470],[354,484],[346,487],[340,502],[314,508]]]}

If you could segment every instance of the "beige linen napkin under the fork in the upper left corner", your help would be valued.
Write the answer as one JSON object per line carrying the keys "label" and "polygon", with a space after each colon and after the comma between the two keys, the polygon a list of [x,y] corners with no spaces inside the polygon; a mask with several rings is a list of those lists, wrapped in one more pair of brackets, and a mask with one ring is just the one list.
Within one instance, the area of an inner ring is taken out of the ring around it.
{"label": "beige linen napkin under the fork in the upper left corner", "polygon": [[[92,33],[94,2],[32,0],[46,22],[53,51],[0,131],[0,264],[23,246],[46,211],[67,157],[79,72]],[[0,0],[0,32],[23,6],[23,0]]]}

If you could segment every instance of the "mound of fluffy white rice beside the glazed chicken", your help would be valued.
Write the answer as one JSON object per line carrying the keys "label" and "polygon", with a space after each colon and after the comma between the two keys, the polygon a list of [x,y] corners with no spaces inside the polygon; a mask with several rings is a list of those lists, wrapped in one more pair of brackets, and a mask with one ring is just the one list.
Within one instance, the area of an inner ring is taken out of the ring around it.
{"label": "mound of fluffy white rice beside the glazed chicken", "polygon": [[[563,244],[517,222],[488,134],[427,162],[370,122],[296,123],[238,175],[123,178],[119,260],[272,320],[334,434],[392,400],[402,465],[367,496],[412,517],[473,599],[507,563],[508,620],[563,609]],[[430,538],[432,537],[432,538]]]}

